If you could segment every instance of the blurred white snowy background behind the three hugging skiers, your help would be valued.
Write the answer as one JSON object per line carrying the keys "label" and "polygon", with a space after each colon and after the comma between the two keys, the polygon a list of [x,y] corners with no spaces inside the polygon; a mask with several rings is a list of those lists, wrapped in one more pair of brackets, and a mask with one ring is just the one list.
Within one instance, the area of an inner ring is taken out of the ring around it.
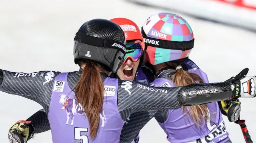
{"label": "blurred white snowy background behind the three hugging skiers", "polygon": [[[210,82],[224,81],[249,68],[256,75],[256,0],[0,0],[0,69],[15,72],[78,70],[73,61],[73,38],[81,24],[94,18],[125,17],[139,27],[151,15],[170,12],[182,16],[194,31],[190,59],[208,74]],[[42,107],[31,100],[1,92],[0,142],[8,130]],[[256,134],[256,99],[242,99],[241,119]],[[239,125],[226,122],[234,143],[245,142]],[[48,143],[51,132],[29,142]],[[166,142],[153,119],[141,131],[140,142]]]}

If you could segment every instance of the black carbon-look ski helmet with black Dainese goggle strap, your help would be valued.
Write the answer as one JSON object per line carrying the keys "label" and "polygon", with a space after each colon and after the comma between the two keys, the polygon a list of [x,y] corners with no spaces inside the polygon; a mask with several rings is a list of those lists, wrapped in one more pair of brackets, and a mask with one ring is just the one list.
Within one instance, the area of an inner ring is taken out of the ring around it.
{"label": "black carbon-look ski helmet with black Dainese goggle strap", "polygon": [[88,59],[100,63],[105,70],[117,72],[126,52],[121,27],[106,19],[92,19],[82,24],[74,38],[74,60]]}

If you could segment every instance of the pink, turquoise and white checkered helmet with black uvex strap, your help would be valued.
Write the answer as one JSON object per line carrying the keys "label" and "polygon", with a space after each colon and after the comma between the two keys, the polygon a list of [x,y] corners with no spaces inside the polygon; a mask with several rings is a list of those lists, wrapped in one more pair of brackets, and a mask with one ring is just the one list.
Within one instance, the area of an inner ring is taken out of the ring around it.
{"label": "pink, turquoise and white checkered helmet with black uvex strap", "polygon": [[194,35],[185,19],[173,13],[157,13],[141,28],[146,59],[152,65],[186,60],[194,47]]}

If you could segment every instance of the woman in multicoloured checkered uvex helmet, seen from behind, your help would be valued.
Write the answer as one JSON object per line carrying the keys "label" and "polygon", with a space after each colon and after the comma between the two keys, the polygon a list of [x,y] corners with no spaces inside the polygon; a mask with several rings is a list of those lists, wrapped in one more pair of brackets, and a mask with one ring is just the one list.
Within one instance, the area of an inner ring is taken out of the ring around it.
{"label": "woman in multicoloured checkered uvex helmet, seen from behind", "polygon": [[[209,82],[207,75],[188,59],[195,39],[190,25],[181,16],[154,14],[143,24],[141,32],[147,45],[146,59],[156,71],[157,79],[152,85],[179,87]],[[231,142],[217,102],[161,110],[155,119],[169,142]]]}

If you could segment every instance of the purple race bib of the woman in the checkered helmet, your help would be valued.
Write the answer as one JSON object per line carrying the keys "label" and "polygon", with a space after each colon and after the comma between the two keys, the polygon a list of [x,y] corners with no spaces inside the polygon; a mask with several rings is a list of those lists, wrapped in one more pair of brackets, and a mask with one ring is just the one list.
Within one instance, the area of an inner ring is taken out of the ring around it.
{"label": "purple race bib of the woman in the checkered helmet", "polygon": [[[207,75],[194,62],[187,60],[184,64],[186,64],[188,72],[198,74],[204,82],[208,83]],[[175,87],[172,81],[164,78],[157,78],[151,84],[157,87]],[[228,141],[228,132],[226,131],[218,103],[214,102],[206,105],[210,119],[205,120],[205,124],[202,127],[195,125],[191,117],[184,115],[182,108],[166,110],[168,111],[167,120],[163,123],[158,123],[166,133],[167,140],[175,143],[217,143]],[[189,110],[189,107],[187,109]]]}

